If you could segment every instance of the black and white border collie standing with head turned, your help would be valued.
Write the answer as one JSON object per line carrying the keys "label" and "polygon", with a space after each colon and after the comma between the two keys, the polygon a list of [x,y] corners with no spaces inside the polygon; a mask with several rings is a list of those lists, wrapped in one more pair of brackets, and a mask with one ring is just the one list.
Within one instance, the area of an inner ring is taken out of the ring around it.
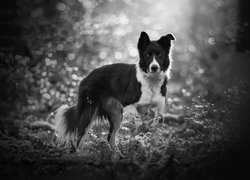
{"label": "black and white border collie standing with head turned", "polygon": [[137,64],[112,64],[93,70],[79,86],[78,102],[61,106],[55,114],[60,142],[79,145],[92,119],[105,118],[110,123],[108,141],[113,157],[120,155],[115,139],[123,118],[123,107],[150,105],[156,116],[163,114],[166,85],[171,65],[172,34],[151,41],[142,32],[138,41]]}

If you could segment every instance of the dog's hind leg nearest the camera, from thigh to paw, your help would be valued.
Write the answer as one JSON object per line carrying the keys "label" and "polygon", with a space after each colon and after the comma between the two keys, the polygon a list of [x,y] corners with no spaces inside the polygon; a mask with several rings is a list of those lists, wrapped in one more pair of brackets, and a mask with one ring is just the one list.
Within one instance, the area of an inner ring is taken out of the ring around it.
{"label": "dog's hind leg nearest the camera, from thigh to paw", "polygon": [[122,104],[114,99],[110,98],[105,103],[105,114],[110,123],[110,129],[108,133],[108,142],[112,150],[112,160],[119,159],[120,156],[123,156],[116,144],[116,134],[120,128],[122,117],[123,117],[123,106]]}

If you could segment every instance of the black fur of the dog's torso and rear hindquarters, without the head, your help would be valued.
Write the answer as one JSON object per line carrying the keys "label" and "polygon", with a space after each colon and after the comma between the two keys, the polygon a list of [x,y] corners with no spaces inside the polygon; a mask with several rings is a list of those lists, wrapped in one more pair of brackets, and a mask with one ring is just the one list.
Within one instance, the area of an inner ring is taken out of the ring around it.
{"label": "black fur of the dog's torso and rear hindquarters, without the head", "polygon": [[[123,106],[137,102],[141,84],[135,74],[135,65],[129,64],[106,65],[92,71],[80,83],[77,105],[65,113],[67,133],[77,132],[81,139],[95,112],[110,121],[116,109],[122,114]],[[110,99],[114,99],[113,105]],[[110,108],[107,108],[108,102]],[[112,130],[113,122],[110,124]]]}

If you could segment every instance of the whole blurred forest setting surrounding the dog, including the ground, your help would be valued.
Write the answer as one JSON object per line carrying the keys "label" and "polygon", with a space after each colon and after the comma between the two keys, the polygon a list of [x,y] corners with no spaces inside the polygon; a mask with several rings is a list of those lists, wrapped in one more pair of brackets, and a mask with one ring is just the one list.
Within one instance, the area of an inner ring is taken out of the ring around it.
{"label": "whole blurred forest setting surrounding the dog, including the ground", "polygon": [[[93,179],[247,174],[249,7],[245,0],[3,1],[1,174]],[[180,122],[163,128],[149,124],[150,117],[125,114],[119,146],[129,161],[118,164],[109,162],[105,128],[86,137],[80,155],[57,147],[51,112],[76,102],[78,84],[91,70],[136,63],[141,31],[152,39],[170,32],[176,37],[168,111],[184,117],[184,130]]]}

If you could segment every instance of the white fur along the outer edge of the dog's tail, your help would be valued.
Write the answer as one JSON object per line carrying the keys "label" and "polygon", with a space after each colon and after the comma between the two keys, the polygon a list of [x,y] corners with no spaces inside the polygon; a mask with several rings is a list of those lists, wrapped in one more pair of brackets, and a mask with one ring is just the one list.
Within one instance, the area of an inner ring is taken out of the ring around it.
{"label": "white fur along the outer edge of the dog's tail", "polygon": [[72,136],[74,136],[73,134],[66,133],[64,113],[68,108],[69,107],[67,105],[63,105],[56,110],[54,124],[57,142],[59,144],[68,144],[70,139],[72,139]]}

